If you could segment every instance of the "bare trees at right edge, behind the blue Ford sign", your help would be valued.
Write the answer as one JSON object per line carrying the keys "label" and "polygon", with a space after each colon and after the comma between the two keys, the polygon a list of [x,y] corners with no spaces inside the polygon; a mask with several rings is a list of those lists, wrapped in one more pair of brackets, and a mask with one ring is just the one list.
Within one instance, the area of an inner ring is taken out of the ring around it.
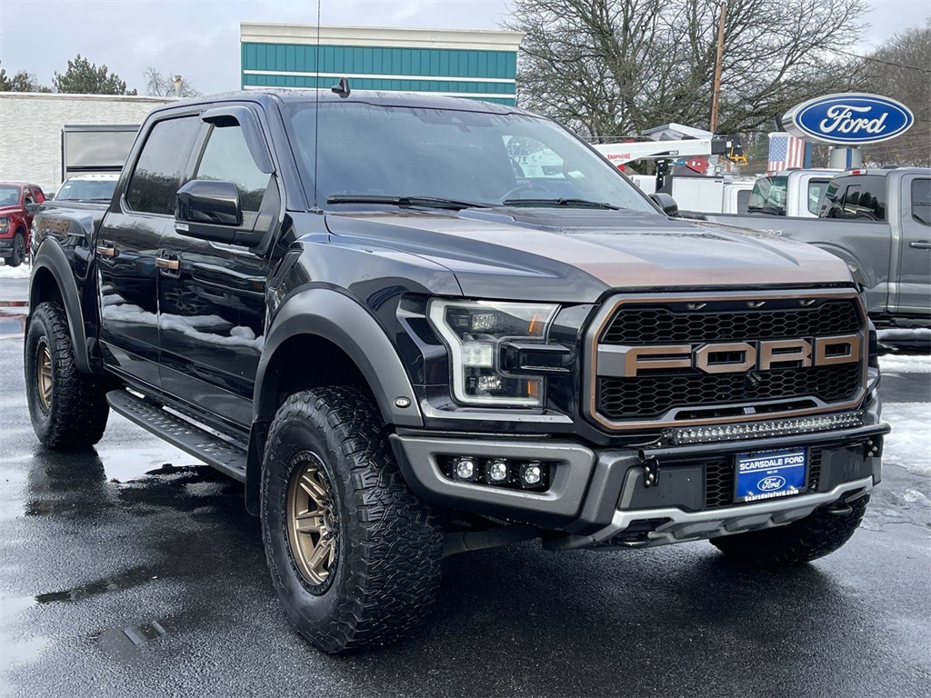
{"label": "bare trees at right edge, behind the blue Ford sign", "polygon": [[931,20],[896,34],[864,62],[870,92],[901,101],[915,116],[904,135],[864,148],[864,160],[931,167]]}

